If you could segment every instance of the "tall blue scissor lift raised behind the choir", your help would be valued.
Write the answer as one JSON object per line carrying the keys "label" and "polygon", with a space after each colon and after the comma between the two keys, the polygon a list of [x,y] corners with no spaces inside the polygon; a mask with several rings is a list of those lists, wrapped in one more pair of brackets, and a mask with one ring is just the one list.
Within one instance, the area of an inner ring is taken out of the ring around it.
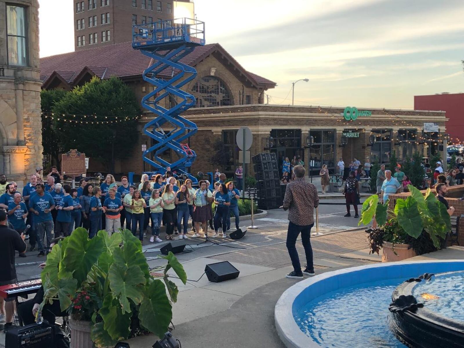
{"label": "tall blue scissor lift raised behind the choir", "polygon": [[[143,127],[143,133],[155,140],[155,145],[142,154],[143,161],[154,168],[153,172],[146,172],[149,177],[156,173],[165,174],[166,167],[171,167],[171,171],[176,171],[177,175],[184,174],[193,183],[198,182],[187,173],[187,168],[192,166],[197,155],[186,142],[198,127],[180,116],[195,105],[195,97],[180,88],[197,75],[193,67],[183,64],[180,59],[198,45],[205,45],[205,23],[196,19],[160,20],[133,26],[132,47],[153,59],[153,64],[142,74],[145,81],[155,86],[142,98],[142,106],[156,116]],[[180,102],[173,103],[174,97]],[[171,106],[170,109],[160,104],[165,98],[169,98],[167,104]],[[179,159],[173,163],[161,158],[163,152],[169,149],[179,155]],[[132,176],[133,173],[129,173],[129,182],[133,182]]]}

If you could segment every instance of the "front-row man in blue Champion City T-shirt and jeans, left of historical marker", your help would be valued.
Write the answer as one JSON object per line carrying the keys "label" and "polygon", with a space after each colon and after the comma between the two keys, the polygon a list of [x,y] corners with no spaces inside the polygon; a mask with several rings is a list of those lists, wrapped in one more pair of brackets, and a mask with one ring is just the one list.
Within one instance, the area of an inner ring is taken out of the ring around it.
{"label": "front-row man in blue Champion City T-shirt and jeans, left of historical marker", "polygon": [[[45,192],[43,184],[37,184],[34,194],[29,202],[29,211],[34,214],[34,227],[37,233],[37,243],[39,244],[39,257],[45,256],[45,251],[50,252],[52,243],[52,230],[54,227],[52,211],[55,209],[55,201],[50,193]],[[32,215],[32,214],[31,214]],[[44,237],[47,236],[46,249]]]}

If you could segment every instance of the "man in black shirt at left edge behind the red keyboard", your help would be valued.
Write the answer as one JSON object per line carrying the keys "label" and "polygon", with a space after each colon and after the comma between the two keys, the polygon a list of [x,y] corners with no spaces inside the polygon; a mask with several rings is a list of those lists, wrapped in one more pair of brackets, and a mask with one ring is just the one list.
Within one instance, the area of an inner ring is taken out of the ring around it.
{"label": "man in black shirt at left edge behind the red keyboard", "polygon": [[[24,233],[19,235],[15,230],[8,228],[6,211],[0,209],[0,285],[17,283],[14,256],[15,251],[26,251],[25,238]],[[0,324],[0,330],[7,331],[14,327],[14,298],[0,298],[0,307],[5,308],[5,325]]]}

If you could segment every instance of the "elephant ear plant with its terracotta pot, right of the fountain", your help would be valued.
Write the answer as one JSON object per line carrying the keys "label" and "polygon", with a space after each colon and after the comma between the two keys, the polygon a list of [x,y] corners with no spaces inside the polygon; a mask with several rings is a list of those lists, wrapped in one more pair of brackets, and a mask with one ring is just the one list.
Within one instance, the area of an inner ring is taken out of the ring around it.
{"label": "elephant ear plant with its terracotta pot, right of the fountain", "polygon": [[383,249],[383,262],[400,261],[440,249],[446,233],[451,230],[445,205],[430,189],[425,195],[412,185],[408,185],[408,189],[411,195],[406,200],[397,199],[393,211],[388,208],[388,200],[381,204],[375,194],[362,205],[358,225],[367,225],[375,217],[378,227],[366,232],[370,252],[379,254],[380,248]]}

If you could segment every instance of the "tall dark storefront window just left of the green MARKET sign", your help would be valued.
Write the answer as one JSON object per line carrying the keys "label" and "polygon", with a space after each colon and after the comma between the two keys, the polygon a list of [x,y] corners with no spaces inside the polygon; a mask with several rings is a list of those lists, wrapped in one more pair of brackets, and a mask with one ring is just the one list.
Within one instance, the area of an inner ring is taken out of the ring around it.
{"label": "tall dark storefront window just left of the green MARKET sign", "polygon": [[313,137],[314,141],[309,149],[309,161],[312,174],[319,174],[323,164],[327,164],[329,170],[334,170],[335,130],[310,130],[309,135]]}

